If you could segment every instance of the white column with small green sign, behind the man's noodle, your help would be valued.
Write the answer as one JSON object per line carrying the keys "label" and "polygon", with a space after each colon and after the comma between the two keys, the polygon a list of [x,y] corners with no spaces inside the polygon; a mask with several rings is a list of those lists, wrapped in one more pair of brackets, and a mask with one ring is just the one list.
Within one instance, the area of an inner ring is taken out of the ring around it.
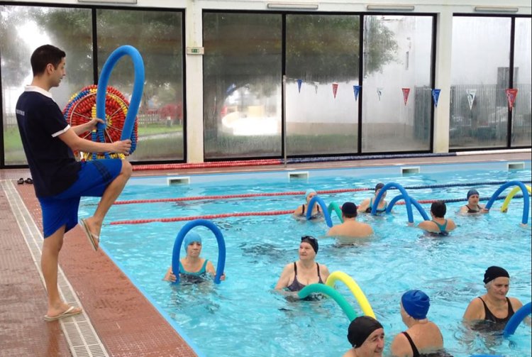
{"label": "white column with small green sign, behind the man's noodle", "polygon": [[[187,0],[185,46],[201,47],[201,5]],[[203,163],[203,55],[185,55],[187,64],[187,163]]]}

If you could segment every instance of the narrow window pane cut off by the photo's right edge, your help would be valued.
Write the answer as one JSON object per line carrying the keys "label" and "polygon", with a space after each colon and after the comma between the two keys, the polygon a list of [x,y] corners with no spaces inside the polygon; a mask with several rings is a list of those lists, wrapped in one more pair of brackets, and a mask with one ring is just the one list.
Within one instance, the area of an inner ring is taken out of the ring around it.
{"label": "narrow window pane cut off by the photo's right edge", "polygon": [[516,18],[515,55],[514,55],[514,88],[517,97],[511,121],[511,145],[531,145],[531,59],[532,35],[531,18]]}

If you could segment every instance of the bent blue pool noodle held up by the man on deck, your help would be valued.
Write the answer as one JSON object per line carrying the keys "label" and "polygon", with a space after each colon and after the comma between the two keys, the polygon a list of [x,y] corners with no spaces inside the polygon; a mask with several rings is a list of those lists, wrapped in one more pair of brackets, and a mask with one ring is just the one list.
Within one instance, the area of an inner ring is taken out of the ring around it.
{"label": "bent blue pool noodle held up by the man on deck", "polygon": [[[133,61],[133,67],[135,69],[135,82],[133,84],[133,94],[131,95],[128,114],[126,114],[126,120],[123,124],[120,140],[131,138],[133,126],[135,126],[135,118],[137,117],[138,107],[140,106],[140,99],[143,97],[144,62],[143,57],[140,56],[138,50],[130,45],[123,45],[114,50],[109,58],[107,58],[104,67],[101,69],[100,78],[98,80],[98,89],[96,90],[96,116],[106,122],[105,98],[107,84],[109,83],[109,77],[111,76],[111,72],[116,65],[116,62],[118,62],[118,60],[125,55],[131,57],[131,60]],[[103,131],[104,128],[105,124],[98,123],[99,131]]]}

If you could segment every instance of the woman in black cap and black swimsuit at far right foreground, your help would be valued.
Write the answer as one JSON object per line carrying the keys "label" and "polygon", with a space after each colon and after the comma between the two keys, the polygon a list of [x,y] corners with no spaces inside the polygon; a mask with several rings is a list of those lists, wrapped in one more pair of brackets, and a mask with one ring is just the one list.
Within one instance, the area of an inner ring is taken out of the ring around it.
{"label": "woman in black cap and black swimsuit at far right foreground", "polygon": [[506,297],[510,290],[509,273],[498,266],[490,266],[484,273],[486,294],[475,297],[464,313],[464,320],[486,320],[493,323],[494,329],[504,329],[506,322],[523,303],[515,297]]}

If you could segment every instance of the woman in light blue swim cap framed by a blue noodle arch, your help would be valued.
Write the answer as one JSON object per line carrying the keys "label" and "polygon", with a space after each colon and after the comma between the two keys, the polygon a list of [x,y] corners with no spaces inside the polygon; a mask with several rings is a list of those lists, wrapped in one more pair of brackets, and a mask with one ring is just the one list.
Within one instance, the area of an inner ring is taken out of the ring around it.
{"label": "woman in light blue swim cap framed by a blue noodle arch", "polygon": [[[214,265],[209,259],[201,258],[201,236],[195,232],[189,232],[184,236],[183,248],[187,255],[179,260],[179,275],[187,280],[187,282],[201,282],[207,277],[207,273],[213,277],[216,275]],[[220,280],[225,280],[226,275],[222,274]],[[168,268],[165,278],[170,282],[174,282],[175,275],[172,272],[172,267]]]}

